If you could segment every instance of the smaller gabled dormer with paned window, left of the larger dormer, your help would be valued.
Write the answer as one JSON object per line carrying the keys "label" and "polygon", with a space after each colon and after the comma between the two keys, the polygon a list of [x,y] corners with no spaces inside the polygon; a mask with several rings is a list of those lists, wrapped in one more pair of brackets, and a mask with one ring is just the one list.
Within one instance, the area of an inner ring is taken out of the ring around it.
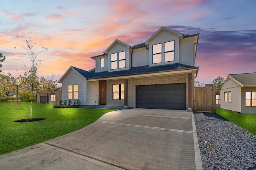
{"label": "smaller gabled dormer with paned window, left of the larger dormer", "polygon": [[108,55],[108,72],[128,70],[131,68],[130,45],[116,39],[104,54]]}

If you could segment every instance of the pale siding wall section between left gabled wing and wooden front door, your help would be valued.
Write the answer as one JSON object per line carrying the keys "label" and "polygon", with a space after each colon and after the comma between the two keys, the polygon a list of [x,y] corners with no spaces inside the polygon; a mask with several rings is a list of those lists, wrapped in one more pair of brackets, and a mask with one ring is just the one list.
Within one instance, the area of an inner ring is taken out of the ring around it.
{"label": "pale siding wall section between left gabled wing and wooden front door", "polygon": [[[99,82],[87,82],[87,105],[98,105]],[[96,102],[95,102],[96,101]]]}

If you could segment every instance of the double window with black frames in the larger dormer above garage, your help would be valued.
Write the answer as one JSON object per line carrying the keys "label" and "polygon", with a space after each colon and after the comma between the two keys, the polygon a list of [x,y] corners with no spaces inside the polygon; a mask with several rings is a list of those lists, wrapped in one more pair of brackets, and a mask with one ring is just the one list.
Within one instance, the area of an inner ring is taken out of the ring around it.
{"label": "double window with black frames in the larger dormer above garage", "polygon": [[[153,45],[153,64],[174,61],[174,41],[165,42],[164,52],[162,43]],[[162,59],[164,58],[164,59]]]}

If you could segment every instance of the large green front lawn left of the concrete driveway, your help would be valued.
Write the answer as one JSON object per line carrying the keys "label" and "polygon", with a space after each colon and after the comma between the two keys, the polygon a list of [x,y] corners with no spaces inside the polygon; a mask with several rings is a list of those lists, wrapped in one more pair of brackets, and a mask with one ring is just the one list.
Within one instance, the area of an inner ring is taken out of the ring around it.
{"label": "large green front lawn left of the concrete driveway", "polygon": [[82,129],[110,109],[54,108],[53,104],[32,105],[32,118],[46,118],[27,123],[14,122],[30,118],[30,102],[9,110],[12,102],[0,102],[0,155],[54,139]]}

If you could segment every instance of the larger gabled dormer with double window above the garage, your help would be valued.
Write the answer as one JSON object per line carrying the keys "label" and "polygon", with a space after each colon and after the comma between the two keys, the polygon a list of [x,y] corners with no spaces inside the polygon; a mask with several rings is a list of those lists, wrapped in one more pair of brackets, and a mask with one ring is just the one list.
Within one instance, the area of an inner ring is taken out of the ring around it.
{"label": "larger gabled dormer with double window above the garage", "polygon": [[149,49],[148,66],[179,63],[179,47],[182,33],[161,27],[145,45]]}

